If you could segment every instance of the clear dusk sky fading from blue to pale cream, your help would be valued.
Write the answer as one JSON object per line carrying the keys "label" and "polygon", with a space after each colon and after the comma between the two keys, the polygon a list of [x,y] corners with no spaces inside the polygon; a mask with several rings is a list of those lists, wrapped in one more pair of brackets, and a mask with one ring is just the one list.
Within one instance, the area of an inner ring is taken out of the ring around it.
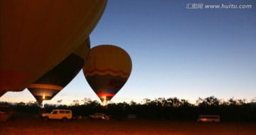
{"label": "clear dusk sky fading from blue to pale cream", "polygon": [[[91,48],[117,45],[132,58],[132,74],[112,102],[177,97],[194,104],[198,97],[256,98],[255,0],[109,0],[90,41]],[[69,105],[84,98],[100,102],[81,70],[46,103]],[[7,92],[0,101],[36,99],[26,89]]]}

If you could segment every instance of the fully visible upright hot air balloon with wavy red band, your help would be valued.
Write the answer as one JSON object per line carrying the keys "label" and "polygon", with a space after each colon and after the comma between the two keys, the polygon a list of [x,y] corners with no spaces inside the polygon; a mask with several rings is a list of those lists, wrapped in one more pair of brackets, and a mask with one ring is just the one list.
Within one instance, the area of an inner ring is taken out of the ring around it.
{"label": "fully visible upright hot air balloon with wavy red band", "polygon": [[82,70],[88,84],[105,105],[127,82],[132,72],[132,60],[122,48],[98,45],[91,48]]}

